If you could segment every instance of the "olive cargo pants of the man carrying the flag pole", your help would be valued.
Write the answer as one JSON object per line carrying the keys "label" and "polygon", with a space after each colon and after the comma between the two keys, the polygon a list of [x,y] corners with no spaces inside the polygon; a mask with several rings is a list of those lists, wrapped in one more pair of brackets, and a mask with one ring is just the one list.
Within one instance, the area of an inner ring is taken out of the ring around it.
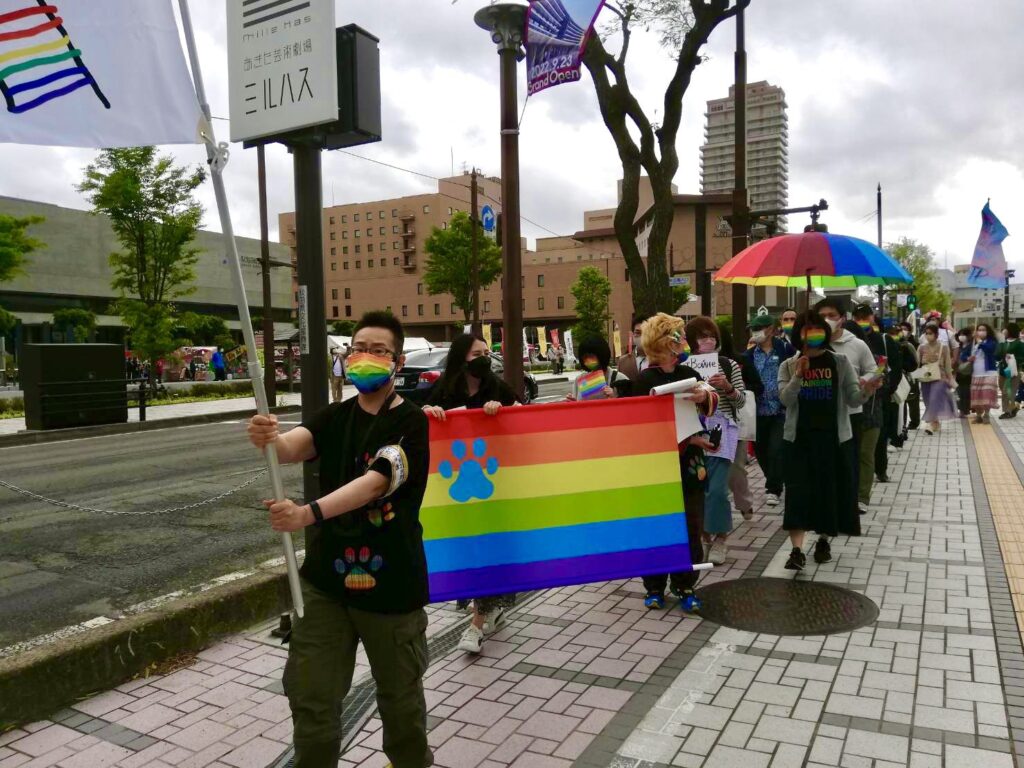
{"label": "olive cargo pants of the man carrying the flag pole", "polygon": [[302,582],[305,615],[292,632],[285,693],[295,729],[295,768],[336,768],[341,703],[352,685],[355,650],[367,651],[384,723],[384,753],[394,768],[427,768],[427,615],[371,613],[342,605]]}

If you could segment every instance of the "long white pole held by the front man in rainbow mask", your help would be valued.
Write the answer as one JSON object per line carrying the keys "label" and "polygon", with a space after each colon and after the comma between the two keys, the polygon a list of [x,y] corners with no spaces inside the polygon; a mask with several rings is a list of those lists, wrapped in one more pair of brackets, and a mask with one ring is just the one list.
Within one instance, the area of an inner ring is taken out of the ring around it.
{"label": "long white pole held by the front man in rainbow mask", "polygon": [[[196,50],[196,36],[193,32],[191,14],[188,12],[188,0],[178,0],[181,11],[181,25],[184,29],[185,45],[188,48],[188,60],[191,63],[193,82],[196,85],[196,96],[206,118],[206,126],[201,135],[206,142],[207,160],[210,163],[210,173],[213,179],[213,190],[217,197],[217,210],[220,213],[220,227],[224,233],[224,247],[227,251],[227,267],[231,273],[234,288],[234,298],[239,305],[239,321],[242,324],[242,336],[246,342],[249,360],[249,378],[253,383],[253,394],[256,396],[256,411],[269,414],[270,408],[266,399],[266,389],[263,386],[263,372],[260,369],[259,356],[256,352],[256,335],[253,333],[252,319],[249,316],[249,301],[246,298],[246,286],[242,276],[242,262],[239,259],[239,249],[234,242],[234,229],[231,226],[231,212],[227,207],[227,193],[224,189],[223,170],[227,162],[227,144],[217,144],[213,131],[213,119],[210,104],[206,100],[206,88],[203,85],[203,73],[199,66],[199,54]],[[270,360],[273,364],[273,360]],[[281,465],[278,463],[278,451],[272,444],[267,445],[264,455],[266,466],[270,471],[270,482],[273,485],[273,498],[285,498],[285,486],[281,479]],[[285,550],[285,562],[288,565],[288,586],[292,592],[292,604],[295,613],[302,617],[302,591],[299,587],[299,565],[295,559],[295,548],[292,546],[291,534],[281,535],[281,544]]]}

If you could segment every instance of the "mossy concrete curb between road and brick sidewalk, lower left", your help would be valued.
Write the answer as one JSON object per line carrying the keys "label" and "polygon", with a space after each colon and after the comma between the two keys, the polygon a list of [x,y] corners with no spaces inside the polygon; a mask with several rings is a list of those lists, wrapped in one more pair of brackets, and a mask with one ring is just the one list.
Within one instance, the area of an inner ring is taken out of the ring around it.
{"label": "mossy concrete curb between road and brick sidewalk, lower left", "polygon": [[284,567],[0,659],[0,732],[142,676],[288,610]]}

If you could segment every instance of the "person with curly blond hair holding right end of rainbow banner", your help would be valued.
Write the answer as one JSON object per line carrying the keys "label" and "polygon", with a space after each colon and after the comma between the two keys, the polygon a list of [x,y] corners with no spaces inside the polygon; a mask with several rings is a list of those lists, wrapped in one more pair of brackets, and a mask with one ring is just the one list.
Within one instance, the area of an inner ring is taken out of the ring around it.
{"label": "person with curly blond hair holding right end of rainbow banner", "polygon": [[[633,389],[635,396],[648,395],[654,387],[663,384],[686,379],[701,380],[700,374],[683,362],[689,354],[689,345],[683,336],[683,325],[682,319],[665,312],[658,312],[644,322],[642,342],[650,365],[640,374],[640,382]],[[707,417],[715,413],[718,392],[713,387],[697,385],[689,395],[700,414]],[[686,532],[690,557],[694,563],[703,560],[701,528],[708,479],[705,451],[714,447],[708,437],[706,432],[701,432],[679,443],[679,473],[683,485]],[[665,590],[669,587],[683,610],[699,611],[700,600],[693,594],[696,583],[697,572],[694,570],[645,575],[644,606],[648,610],[664,608]]]}

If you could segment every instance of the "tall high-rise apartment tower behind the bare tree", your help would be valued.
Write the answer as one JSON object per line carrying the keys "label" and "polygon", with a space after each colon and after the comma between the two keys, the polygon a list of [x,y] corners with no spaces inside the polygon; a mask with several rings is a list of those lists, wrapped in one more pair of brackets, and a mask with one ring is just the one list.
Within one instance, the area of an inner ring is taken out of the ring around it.
{"label": "tall high-rise apartment tower behind the bare tree", "polygon": [[[700,147],[700,191],[732,191],[735,180],[735,86],[726,98],[708,102],[705,144]],[[746,188],[751,209],[788,205],[790,129],[785,92],[762,80],[746,86]],[[778,219],[780,231],[785,219]]]}

